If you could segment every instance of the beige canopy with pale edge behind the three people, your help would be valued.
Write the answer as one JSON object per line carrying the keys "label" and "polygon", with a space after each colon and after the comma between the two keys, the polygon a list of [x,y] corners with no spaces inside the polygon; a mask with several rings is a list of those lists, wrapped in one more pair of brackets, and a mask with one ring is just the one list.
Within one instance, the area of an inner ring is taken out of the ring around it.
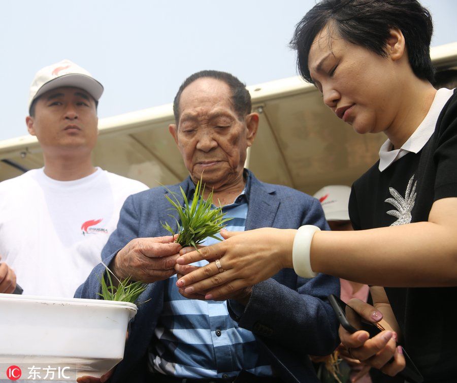
{"label": "beige canopy with pale edge behind the three people", "polygon": [[[457,67],[457,42],[434,47],[436,68]],[[313,85],[290,77],[248,86],[259,130],[246,161],[266,182],[313,194],[325,184],[348,184],[377,160],[383,135],[358,135],[323,105]],[[99,120],[96,166],[153,187],[187,175],[168,125],[172,104]],[[35,137],[0,141],[0,180],[43,166]]]}

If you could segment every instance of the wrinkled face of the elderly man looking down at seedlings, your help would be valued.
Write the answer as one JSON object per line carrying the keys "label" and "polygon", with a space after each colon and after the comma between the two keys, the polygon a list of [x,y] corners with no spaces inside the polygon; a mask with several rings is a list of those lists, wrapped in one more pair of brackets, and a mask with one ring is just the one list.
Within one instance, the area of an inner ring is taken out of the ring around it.
{"label": "wrinkled face of the elderly man looking down at seedlings", "polygon": [[236,182],[257,131],[258,115],[240,120],[230,87],[213,78],[188,85],[181,93],[179,112],[179,123],[170,125],[170,133],[192,180],[198,181],[203,173],[203,181],[214,188]]}

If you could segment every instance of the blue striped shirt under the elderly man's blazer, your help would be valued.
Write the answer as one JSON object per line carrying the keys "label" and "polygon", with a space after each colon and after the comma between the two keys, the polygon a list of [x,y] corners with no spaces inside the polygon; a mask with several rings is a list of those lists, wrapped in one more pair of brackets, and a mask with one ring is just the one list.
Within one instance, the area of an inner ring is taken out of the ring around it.
{"label": "blue striped shirt under the elderly man's blazer", "polygon": [[[245,230],[249,181],[248,177],[245,190],[233,204],[222,207],[225,217],[233,218],[226,222],[227,230]],[[207,238],[203,245],[216,242]],[[176,281],[176,275],[166,281],[164,309],[149,347],[151,370],[182,378],[236,376],[241,370],[272,375],[268,360],[258,353],[254,334],[232,320],[226,301],[186,299],[179,294]]]}

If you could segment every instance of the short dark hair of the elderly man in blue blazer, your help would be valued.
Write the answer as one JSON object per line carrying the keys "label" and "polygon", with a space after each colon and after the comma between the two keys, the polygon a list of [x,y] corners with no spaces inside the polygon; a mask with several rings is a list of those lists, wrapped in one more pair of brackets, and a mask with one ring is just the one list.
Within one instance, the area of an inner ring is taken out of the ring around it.
{"label": "short dark hair of the elderly man in blue blazer", "polygon": [[237,77],[227,72],[200,71],[187,77],[179,87],[178,93],[176,93],[173,102],[173,113],[175,114],[176,124],[179,123],[179,100],[181,93],[192,82],[205,77],[221,80],[230,87],[232,91],[232,104],[240,120],[251,112],[251,95],[246,89],[246,84],[243,84]]}

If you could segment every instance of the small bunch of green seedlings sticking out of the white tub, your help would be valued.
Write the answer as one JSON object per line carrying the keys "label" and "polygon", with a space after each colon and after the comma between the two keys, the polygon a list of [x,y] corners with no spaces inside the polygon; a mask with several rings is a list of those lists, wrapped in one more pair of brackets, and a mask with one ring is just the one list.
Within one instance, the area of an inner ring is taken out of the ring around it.
{"label": "small bunch of green seedlings sticking out of the white tub", "polygon": [[[102,293],[99,294],[106,301],[122,301],[136,303],[138,297],[146,290],[147,283],[141,281],[130,283],[131,277],[127,277],[123,280],[117,279],[116,275],[106,266],[105,266],[108,276],[108,284],[104,277],[100,279],[102,285]],[[111,279],[111,274],[117,279],[118,284],[113,285],[113,280]]]}

